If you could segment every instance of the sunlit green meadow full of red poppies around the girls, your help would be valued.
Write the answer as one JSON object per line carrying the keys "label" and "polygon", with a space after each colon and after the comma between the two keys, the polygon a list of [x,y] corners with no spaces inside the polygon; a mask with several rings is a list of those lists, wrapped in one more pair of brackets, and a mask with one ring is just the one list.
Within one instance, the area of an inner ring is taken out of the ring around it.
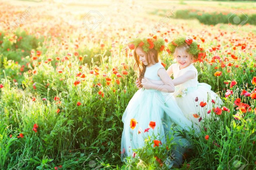
{"label": "sunlit green meadow full of red poppies around the girls", "polygon": [[[256,26],[206,25],[176,13],[200,6],[201,12],[252,15],[255,2],[0,5],[0,169],[167,169],[166,147],[152,143],[136,151],[140,157],[120,159],[122,115],[138,90],[127,41],[138,35],[166,43],[193,37],[206,50],[195,63],[198,81],[224,102],[190,139],[193,149],[180,169],[256,169]],[[96,25],[86,23],[90,13]],[[166,51],[160,58],[165,69],[175,62]]]}

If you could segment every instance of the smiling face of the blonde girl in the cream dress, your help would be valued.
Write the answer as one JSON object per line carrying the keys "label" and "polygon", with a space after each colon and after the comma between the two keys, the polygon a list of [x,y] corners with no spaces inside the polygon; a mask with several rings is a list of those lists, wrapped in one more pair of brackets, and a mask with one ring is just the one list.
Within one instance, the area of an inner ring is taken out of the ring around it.
{"label": "smiling face of the blonde girl in the cream dress", "polygon": [[191,56],[187,51],[182,49],[177,49],[174,53],[175,59],[180,65],[180,69],[184,69],[191,64]]}

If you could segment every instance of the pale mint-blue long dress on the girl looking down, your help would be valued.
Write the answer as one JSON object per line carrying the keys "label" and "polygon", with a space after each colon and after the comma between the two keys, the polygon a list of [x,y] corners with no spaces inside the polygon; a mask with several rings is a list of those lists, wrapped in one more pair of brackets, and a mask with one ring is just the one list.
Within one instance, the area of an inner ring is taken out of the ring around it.
{"label": "pale mint-blue long dress on the girl looking down", "polygon": [[[151,67],[146,68],[144,77],[161,80],[157,75],[160,68],[164,68],[161,62],[156,63]],[[135,119],[138,123],[134,129],[130,127],[131,119]],[[150,121],[156,122],[156,127],[153,130],[150,128],[149,132],[144,133],[145,129],[149,128]],[[156,135],[160,134],[156,140],[161,140],[162,144],[165,143],[166,135],[169,135],[170,126],[172,123],[178,125],[179,130],[190,130],[193,123],[189,121],[181,109],[178,107],[175,98],[170,93],[164,93],[155,89],[139,89],[129,101],[125,112],[122,117],[124,129],[121,140],[121,160],[131,156],[135,148],[142,147],[145,143],[142,133],[152,136],[153,132]],[[199,131],[198,127],[196,128]],[[140,131],[141,133],[138,133]],[[152,137],[153,138],[153,137]],[[152,139],[151,138],[151,139]],[[188,142],[187,139],[174,135],[174,141],[180,140],[183,143]],[[154,140],[154,139],[152,139]],[[178,142],[177,142],[178,143]],[[189,146],[189,142],[187,143]],[[152,145],[153,147],[153,145]],[[174,164],[180,165],[183,162],[182,154],[184,153],[184,145],[177,144],[175,153]]]}

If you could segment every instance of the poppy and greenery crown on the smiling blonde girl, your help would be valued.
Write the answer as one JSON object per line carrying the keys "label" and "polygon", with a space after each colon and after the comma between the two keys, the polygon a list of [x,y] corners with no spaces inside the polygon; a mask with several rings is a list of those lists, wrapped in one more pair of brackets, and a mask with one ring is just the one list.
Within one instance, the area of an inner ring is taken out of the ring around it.
{"label": "poppy and greenery crown on the smiling blonde girl", "polygon": [[190,37],[175,38],[171,43],[168,44],[168,53],[173,54],[176,47],[185,43],[190,46],[187,52],[193,55],[195,62],[201,62],[205,58],[205,50],[200,48],[200,44],[197,44],[197,42]]}

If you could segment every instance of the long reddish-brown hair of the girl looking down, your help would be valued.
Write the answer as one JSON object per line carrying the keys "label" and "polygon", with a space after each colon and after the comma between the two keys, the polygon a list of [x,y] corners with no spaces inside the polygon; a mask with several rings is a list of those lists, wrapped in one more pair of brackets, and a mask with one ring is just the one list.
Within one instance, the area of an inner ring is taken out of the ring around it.
{"label": "long reddish-brown hair of the girl looking down", "polygon": [[[137,47],[137,48],[141,48],[141,47]],[[138,77],[139,77],[139,81],[141,81],[141,79],[144,77],[145,75],[145,72],[146,72],[146,65],[144,65],[140,60],[139,60],[139,56],[136,54],[136,49],[134,49],[133,51],[133,57],[135,59],[135,63],[134,63],[134,66],[133,66],[133,69],[135,71],[138,71]],[[141,48],[142,49],[142,48]],[[148,64],[153,64],[153,61],[151,60],[151,57],[150,57],[150,52],[153,52],[154,54],[154,61],[155,62],[159,62],[159,59],[158,59],[158,53],[157,51],[155,50],[155,48],[152,48],[150,49],[147,53],[146,53],[146,61],[148,62]]]}

